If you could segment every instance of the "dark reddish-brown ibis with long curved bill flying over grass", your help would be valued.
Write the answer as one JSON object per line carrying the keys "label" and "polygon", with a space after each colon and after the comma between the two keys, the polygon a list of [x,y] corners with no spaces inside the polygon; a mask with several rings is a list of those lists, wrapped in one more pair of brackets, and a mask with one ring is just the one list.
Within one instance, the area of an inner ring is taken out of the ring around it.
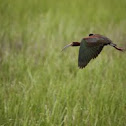
{"label": "dark reddish-brown ibis with long curved bill flying over grass", "polygon": [[121,52],[125,51],[124,48],[117,47],[117,45],[114,44],[112,40],[108,37],[92,33],[89,34],[88,37],[82,38],[81,42],[72,42],[66,45],[62,49],[62,51],[70,46],[80,46],[78,56],[78,67],[83,69],[92,59],[95,59],[100,54],[104,46],[107,45],[112,46],[116,50],[119,50]]}

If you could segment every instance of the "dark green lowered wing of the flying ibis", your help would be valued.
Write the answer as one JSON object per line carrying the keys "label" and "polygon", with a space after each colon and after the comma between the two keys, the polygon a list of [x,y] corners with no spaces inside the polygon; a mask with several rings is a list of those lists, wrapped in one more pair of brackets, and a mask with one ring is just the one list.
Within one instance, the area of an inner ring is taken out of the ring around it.
{"label": "dark green lowered wing of the flying ibis", "polygon": [[78,66],[84,68],[91,59],[94,59],[102,51],[103,45],[97,45],[94,42],[94,46],[88,46],[85,39],[81,41],[78,57]]}

